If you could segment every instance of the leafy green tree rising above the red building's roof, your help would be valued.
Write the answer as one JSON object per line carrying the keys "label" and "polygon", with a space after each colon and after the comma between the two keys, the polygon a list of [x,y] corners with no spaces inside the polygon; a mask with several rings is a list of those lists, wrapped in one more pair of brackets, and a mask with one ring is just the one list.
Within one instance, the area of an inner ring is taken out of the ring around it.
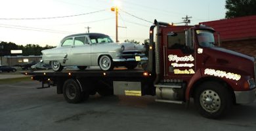
{"label": "leafy green tree rising above the red building's roof", "polygon": [[226,0],[226,18],[251,16],[256,14],[255,0]]}

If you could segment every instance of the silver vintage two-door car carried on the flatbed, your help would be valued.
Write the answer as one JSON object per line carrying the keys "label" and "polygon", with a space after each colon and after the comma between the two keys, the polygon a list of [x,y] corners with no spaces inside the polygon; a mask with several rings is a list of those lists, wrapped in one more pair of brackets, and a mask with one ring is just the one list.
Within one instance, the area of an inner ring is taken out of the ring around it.
{"label": "silver vintage two-door car carried on the flatbed", "polygon": [[51,64],[54,71],[70,65],[79,69],[100,66],[103,71],[110,71],[115,66],[134,69],[139,62],[148,60],[144,51],[142,45],[114,43],[102,33],[80,33],[64,37],[58,47],[41,52],[42,61]]}

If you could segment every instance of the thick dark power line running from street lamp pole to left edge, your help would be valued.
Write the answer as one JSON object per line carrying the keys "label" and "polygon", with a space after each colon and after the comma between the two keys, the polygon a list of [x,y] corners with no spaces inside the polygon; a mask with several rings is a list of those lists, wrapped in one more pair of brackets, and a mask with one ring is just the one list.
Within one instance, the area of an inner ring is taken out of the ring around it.
{"label": "thick dark power line running from street lamp pole to left edge", "polygon": [[97,10],[94,12],[87,12],[87,13],[83,13],[83,14],[74,14],[74,15],[70,15],[70,16],[54,16],[54,17],[41,17],[41,18],[0,18],[0,20],[45,20],[45,19],[56,19],[56,18],[68,18],[68,17],[74,17],[74,16],[83,16],[83,15],[87,15],[87,14],[94,14],[97,12],[102,12],[105,11],[104,10]]}

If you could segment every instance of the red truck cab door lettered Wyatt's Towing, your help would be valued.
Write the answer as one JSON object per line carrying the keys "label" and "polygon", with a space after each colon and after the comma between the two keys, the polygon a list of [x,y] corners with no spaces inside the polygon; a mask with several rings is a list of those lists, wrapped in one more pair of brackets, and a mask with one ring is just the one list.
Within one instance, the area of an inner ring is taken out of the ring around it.
{"label": "red truck cab door lettered Wyatt's Towing", "polygon": [[167,81],[190,79],[195,73],[194,50],[186,44],[185,31],[169,32],[164,43],[164,77]]}

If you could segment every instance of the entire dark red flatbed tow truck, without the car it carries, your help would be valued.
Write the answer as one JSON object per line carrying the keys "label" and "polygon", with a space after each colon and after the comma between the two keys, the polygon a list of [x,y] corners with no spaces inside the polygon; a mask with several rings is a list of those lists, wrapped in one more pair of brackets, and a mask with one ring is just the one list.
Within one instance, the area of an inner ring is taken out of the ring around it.
{"label": "entire dark red flatbed tow truck, without the car it carries", "polygon": [[154,21],[150,27],[148,62],[144,69],[28,71],[32,79],[56,85],[69,103],[98,94],[156,96],[156,102],[194,103],[203,117],[223,117],[235,103],[252,103],[255,58],[215,45],[213,28],[171,26]]}

